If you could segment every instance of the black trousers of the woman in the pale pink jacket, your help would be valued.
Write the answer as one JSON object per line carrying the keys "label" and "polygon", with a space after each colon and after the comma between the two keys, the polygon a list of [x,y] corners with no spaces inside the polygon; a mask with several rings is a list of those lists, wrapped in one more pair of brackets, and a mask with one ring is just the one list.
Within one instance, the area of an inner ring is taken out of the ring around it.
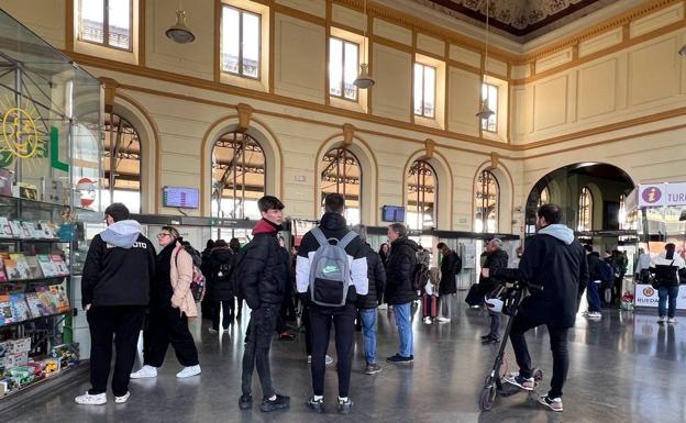
{"label": "black trousers of the woman in the pale pink jacket", "polygon": [[147,327],[143,334],[143,363],[162,367],[169,344],[181,366],[199,364],[198,348],[188,330],[188,318],[172,305],[151,305]]}

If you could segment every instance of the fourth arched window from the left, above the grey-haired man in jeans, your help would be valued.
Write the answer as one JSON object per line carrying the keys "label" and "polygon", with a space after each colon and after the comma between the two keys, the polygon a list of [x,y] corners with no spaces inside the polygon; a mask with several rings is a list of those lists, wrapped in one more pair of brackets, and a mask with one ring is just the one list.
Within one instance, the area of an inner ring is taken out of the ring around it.
{"label": "fourth arched window from the left, above the grey-haired man in jeans", "polygon": [[436,193],[439,192],[436,172],[424,160],[416,160],[407,175],[408,212],[406,221],[411,230],[435,226]]}

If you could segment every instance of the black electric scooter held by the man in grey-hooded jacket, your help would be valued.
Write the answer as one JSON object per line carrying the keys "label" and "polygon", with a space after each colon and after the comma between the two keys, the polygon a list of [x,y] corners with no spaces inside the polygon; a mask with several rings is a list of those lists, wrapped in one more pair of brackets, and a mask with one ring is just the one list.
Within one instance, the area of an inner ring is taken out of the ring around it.
{"label": "black electric scooter held by the man in grey-hooded jacket", "polygon": [[[508,288],[505,291],[505,299],[501,300],[502,313],[509,315],[510,318],[508,319],[508,324],[505,329],[505,333],[502,334],[502,341],[500,341],[500,347],[498,348],[498,355],[496,355],[493,369],[486,377],[484,389],[482,390],[482,394],[479,397],[479,407],[482,411],[489,411],[493,408],[497,396],[509,397],[522,390],[513,385],[502,383],[500,367],[502,366],[505,358],[505,347],[507,346],[508,338],[510,337],[510,331],[512,330],[512,322],[517,315],[519,304],[525,297],[529,288],[543,289],[543,287],[518,280],[511,288]],[[495,311],[497,312],[497,310]],[[538,386],[541,379],[543,379],[543,371],[540,369],[533,369],[532,376],[535,385]]]}

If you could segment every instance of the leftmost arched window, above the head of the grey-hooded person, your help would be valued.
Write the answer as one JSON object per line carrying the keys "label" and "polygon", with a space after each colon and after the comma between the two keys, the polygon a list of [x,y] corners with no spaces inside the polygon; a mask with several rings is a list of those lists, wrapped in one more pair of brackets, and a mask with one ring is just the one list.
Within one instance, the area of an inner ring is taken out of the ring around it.
{"label": "leftmost arched window, above the head of the grey-hooded person", "polygon": [[141,212],[141,140],[137,131],[115,113],[104,115],[104,183],[102,207],[123,202]]}

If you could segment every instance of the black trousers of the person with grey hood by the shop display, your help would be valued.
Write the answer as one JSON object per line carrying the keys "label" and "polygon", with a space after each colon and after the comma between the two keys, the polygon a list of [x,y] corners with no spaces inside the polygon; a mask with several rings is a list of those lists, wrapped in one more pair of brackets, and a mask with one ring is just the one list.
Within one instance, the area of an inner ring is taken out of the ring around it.
{"label": "black trousers of the person with grey hood by the shop display", "polygon": [[122,397],[129,391],[129,375],[135,360],[144,318],[144,305],[93,305],[86,312],[90,329],[90,394],[107,392],[112,363],[112,338],[117,350],[112,392]]}

